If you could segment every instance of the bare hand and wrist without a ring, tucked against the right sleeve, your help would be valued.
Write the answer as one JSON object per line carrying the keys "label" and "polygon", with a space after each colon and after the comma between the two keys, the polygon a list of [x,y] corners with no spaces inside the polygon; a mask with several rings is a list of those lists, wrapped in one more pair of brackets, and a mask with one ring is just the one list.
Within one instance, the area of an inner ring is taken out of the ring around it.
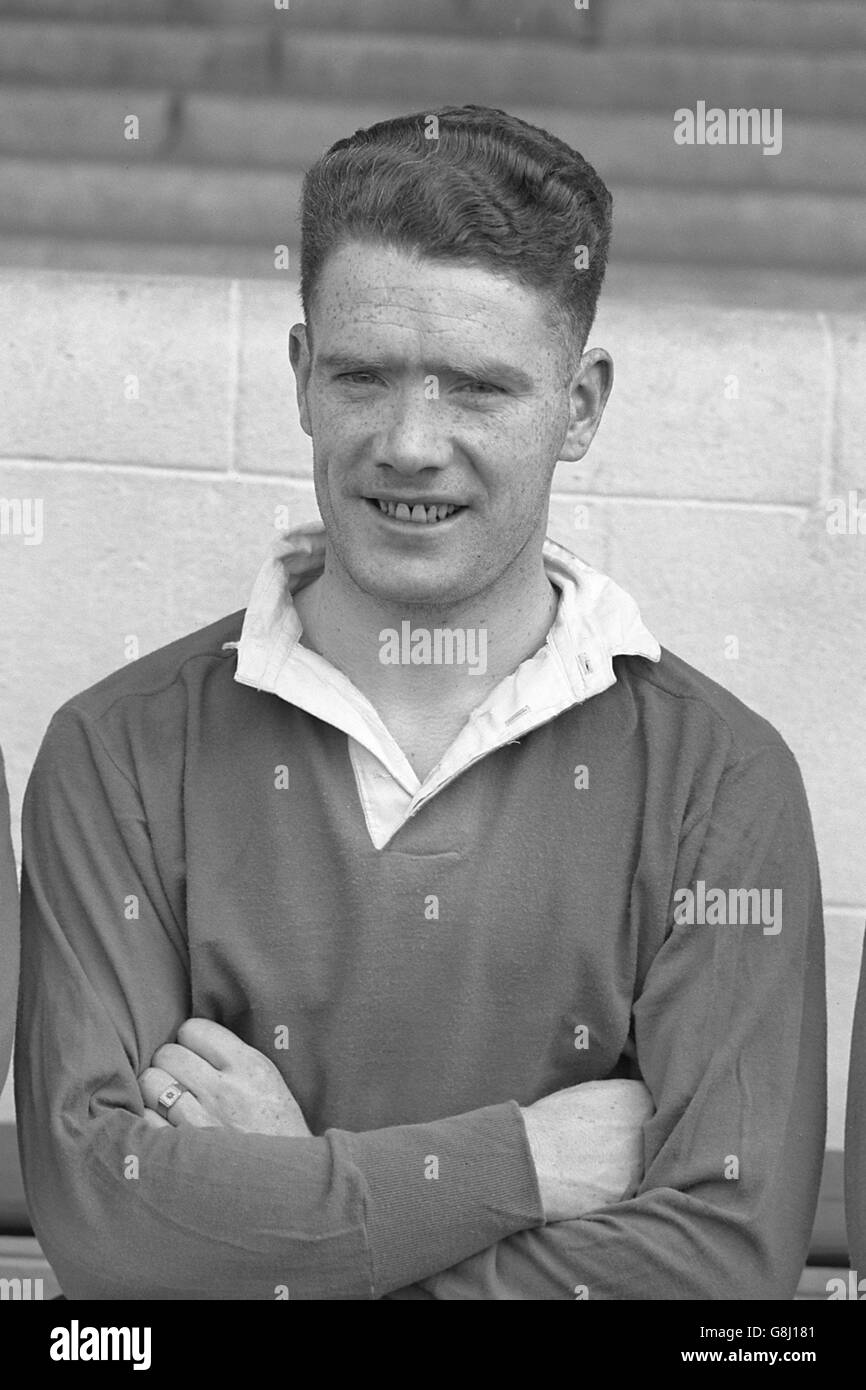
{"label": "bare hand and wrist without a ring, tucked against the right sleeve", "polygon": [[546,1222],[632,1197],[644,1176],[642,1081],[584,1081],[521,1108]]}

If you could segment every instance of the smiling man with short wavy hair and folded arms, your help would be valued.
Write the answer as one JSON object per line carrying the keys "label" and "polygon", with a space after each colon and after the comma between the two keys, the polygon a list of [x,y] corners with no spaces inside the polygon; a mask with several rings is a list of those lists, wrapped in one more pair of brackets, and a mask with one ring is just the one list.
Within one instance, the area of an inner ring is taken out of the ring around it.
{"label": "smiling man with short wavy hair and folded arms", "polygon": [[[338,142],[302,222],[324,528],[64,706],[31,781],[36,1232],[78,1297],[791,1297],[824,1123],[799,773],[545,541],[612,385],[610,196],[445,108]],[[708,887],[784,926],[684,924]]]}

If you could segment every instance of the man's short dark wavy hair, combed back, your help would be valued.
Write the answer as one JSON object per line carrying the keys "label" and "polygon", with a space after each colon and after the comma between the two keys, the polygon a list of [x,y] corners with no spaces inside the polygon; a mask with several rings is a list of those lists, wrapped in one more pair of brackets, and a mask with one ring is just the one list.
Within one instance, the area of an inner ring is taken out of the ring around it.
{"label": "man's short dark wavy hair, combed back", "polygon": [[336,140],[304,177],[304,317],[310,324],[327,257],[350,240],[378,242],[541,291],[580,357],[605,278],[612,204],[577,150],[507,111],[446,106],[378,121]]}

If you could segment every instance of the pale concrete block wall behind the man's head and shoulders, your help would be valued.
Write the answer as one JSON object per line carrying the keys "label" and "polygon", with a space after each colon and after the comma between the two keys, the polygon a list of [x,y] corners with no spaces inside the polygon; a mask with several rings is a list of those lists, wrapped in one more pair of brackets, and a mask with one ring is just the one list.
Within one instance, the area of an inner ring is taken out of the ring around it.
{"label": "pale concrete block wall behind the man's head and shoulders", "polygon": [[[288,277],[0,272],[0,744],[15,817],[54,709],[135,651],[242,607],[281,509],[316,516],[286,356],[300,317]],[[866,318],[609,297],[591,342],[613,354],[614,392],[588,459],[559,466],[550,534],[799,760],[841,1148],[866,920]],[[24,534],[36,503],[40,543]]]}

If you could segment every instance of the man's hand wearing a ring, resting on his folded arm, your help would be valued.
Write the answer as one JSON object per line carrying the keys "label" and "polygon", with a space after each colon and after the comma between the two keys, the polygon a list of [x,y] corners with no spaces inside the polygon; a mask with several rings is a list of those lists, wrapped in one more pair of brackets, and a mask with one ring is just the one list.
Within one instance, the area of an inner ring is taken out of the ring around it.
{"label": "man's hand wearing a ring, resting on his folded arm", "polygon": [[[213,1019],[188,1019],[178,1041],[153,1054],[153,1066],[139,1076],[145,1119],[154,1129],[195,1125],[222,1126],[247,1134],[311,1138],[297,1101],[279,1070],[256,1048]],[[164,1119],[157,1101],[177,1081],[185,1093]]]}

